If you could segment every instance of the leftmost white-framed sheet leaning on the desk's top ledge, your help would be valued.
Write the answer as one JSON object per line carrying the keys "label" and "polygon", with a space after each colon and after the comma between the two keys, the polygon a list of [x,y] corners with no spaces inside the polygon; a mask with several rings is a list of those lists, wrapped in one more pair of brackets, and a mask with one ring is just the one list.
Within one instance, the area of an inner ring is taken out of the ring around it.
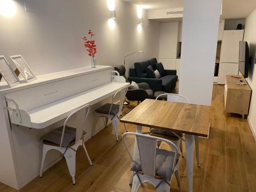
{"label": "leftmost white-framed sheet leaning on the desk's top ledge", "polygon": [[12,70],[4,55],[0,55],[0,73],[10,87],[20,83],[17,75]]}

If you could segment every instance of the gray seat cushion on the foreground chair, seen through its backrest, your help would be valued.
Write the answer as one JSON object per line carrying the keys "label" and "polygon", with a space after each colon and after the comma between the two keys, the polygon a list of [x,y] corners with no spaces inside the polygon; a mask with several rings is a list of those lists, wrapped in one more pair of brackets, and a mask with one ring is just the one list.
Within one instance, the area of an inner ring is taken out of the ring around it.
{"label": "gray seat cushion on the foreground chair, seen through its backrest", "polygon": [[[178,155],[179,156],[179,155]],[[163,179],[170,180],[173,175],[174,152],[156,148],[156,175]],[[140,157],[135,157],[135,162],[131,166],[133,172],[141,170]]]}

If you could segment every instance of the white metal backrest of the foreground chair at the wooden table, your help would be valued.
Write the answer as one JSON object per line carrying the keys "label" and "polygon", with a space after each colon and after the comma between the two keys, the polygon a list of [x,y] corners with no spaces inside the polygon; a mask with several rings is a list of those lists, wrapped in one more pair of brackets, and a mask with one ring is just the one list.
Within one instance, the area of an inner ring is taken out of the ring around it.
{"label": "white metal backrest of the foreground chair at the wooden table", "polygon": [[[123,143],[126,147],[127,152],[129,153],[129,156],[132,160],[132,162],[135,162],[131,155],[131,151],[126,143],[126,136],[127,135],[135,135],[136,136],[136,141],[138,144],[138,151],[139,151],[139,157],[140,157],[140,163],[141,163],[141,169],[142,173],[146,174],[148,176],[155,177],[156,176],[156,146],[157,146],[157,140],[161,140],[165,143],[167,143],[170,148],[172,148],[172,151],[175,153],[174,157],[174,163],[173,163],[173,170],[176,166],[176,162],[178,159],[178,148],[177,146],[172,142],[167,139],[159,138],[159,137],[154,137],[150,135],[144,135],[140,133],[132,133],[132,132],[127,132],[123,134]],[[137,162],[135,162],[137,163]]]}

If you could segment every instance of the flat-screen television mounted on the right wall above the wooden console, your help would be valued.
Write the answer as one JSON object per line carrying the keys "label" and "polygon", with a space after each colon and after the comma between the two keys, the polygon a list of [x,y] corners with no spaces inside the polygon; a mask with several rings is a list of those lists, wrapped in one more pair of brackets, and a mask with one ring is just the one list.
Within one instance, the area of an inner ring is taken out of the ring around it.
{"label": "flat-screen television mounted on the right wall above the wooden console", "polygon": [[248,77],[249,72],[249,46],[247,41],[239,42],[239,71],[244,76],[244,78]]}

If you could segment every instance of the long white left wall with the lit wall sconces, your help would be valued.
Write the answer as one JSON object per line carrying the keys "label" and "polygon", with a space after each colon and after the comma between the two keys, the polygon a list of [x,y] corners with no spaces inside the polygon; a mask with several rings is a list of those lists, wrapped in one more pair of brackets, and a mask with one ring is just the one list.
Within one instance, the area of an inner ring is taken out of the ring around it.
{"label": "long white left wall with the lit wall sconces", "polygon": [[[148,24],[143,11],[142,31],[137,30],[137,8],[115,0],[115,27],[108,25],[107,0],[17,0],[16,15],[0,15],[0,55],[22,54],[36,75],[91,65],[82,37],[88,29],[95,32],[97,65],[118,65],[127,58],[129,71],[136,60],[158,56],[159,24]],[[149,28],[148,28],[149,27]]]}

